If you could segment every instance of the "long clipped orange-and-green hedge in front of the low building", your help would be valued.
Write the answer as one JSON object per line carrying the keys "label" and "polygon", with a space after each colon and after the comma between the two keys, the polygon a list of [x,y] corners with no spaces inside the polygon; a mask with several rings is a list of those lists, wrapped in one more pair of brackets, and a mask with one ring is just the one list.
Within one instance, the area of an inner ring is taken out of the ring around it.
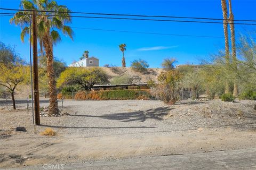
{"label": "long clipped orange-and-green hedge in front of the low building", "polygon": [[148,90],[83,91],[75,95],[76,100],[149,100],[150,98]]}

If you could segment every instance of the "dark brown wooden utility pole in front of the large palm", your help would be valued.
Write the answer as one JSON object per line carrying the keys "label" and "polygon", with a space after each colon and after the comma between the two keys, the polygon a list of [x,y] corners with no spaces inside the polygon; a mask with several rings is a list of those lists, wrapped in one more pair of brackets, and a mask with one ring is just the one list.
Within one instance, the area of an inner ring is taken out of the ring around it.
{"label": "dark brown wooden utility pole in front of the large palm", "polygon": [[36,125],[40,125],[38,63],[37,63],[37,25],[36,25],[36,12],[35,11],[33,11],[32,25],[33,25],[33,69],[34,69],[35,122],[36,122]]}

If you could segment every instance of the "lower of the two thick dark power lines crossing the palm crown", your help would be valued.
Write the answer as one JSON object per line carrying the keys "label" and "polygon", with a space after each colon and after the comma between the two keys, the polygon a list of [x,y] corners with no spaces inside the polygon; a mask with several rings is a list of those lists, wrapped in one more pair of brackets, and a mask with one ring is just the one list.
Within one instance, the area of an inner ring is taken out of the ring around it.
{"label": "lower of the two thick dark power lines crossing the palm crown", "polygon": [[[13,14],[16,13],[0,13],[0,14]],[[18,15],[31,15],[31,14],[21,14]],[[63,16],[63,15],[50,15],[50,14],[36,14],[39,16]],[[139,19],[139,18],[116,18],[116,17],[102,17],[102,16],[78,16],[78,15],[69,15],[74,18],[95,18],[95,19],[115,19],[115,20],[138,20],[138,21],[164,21],[164,22],[186,22],[186,23],[213,23],[213,24],[223,24],[228,22],[211,22],[211,21],[184,21],[184,20],[161,20],[161,19]],[[256,23],[234,23],[238,25],[256,25]]]}

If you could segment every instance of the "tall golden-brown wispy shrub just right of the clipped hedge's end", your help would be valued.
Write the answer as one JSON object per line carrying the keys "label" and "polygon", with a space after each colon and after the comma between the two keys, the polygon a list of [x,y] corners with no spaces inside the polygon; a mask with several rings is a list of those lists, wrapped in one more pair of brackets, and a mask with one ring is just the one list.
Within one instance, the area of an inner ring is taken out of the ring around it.
{"label": "tall golden-brown wispy shrub just right of the clipped hedge's end", "polygon": [[181,74],[178,70],[170,70],[162,72],[158,76],[158,84],[156,88],[151,90],[153,96],[164,101],[167,104],[175,104],[179,99]]}

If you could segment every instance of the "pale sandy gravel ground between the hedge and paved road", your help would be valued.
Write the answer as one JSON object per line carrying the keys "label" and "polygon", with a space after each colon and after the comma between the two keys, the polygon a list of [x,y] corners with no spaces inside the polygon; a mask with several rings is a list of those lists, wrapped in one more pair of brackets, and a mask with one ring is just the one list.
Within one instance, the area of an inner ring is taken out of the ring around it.
{"label": "pale sandy gravel ground between the hedge and paved road", "polygon": [[[19,104],[18,111],[0,110],[0,168],[255,148],[254,103],[65,100],[69,115],[41,117],[36,127]],[[39,134],[49,127],[55,137]]]}

